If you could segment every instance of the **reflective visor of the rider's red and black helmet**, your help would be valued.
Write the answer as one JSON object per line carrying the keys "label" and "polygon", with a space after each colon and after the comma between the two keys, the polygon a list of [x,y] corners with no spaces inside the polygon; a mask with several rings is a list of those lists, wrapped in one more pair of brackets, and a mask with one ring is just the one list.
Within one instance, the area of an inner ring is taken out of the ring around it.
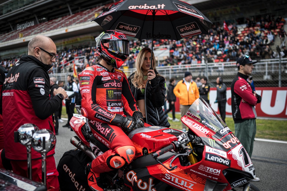
{"label": "reflective visor of the rider's red and black helmet", "polygon": [[[104,42],[103,45],[115,51],[116,54],[127,54],[129,55],[129,42],[127,40],[115,40],[113,39],[107,40],[108,42]],[[110,50],[111,51],[111,50]],[[111,51],[113,52],[113,51]]]}

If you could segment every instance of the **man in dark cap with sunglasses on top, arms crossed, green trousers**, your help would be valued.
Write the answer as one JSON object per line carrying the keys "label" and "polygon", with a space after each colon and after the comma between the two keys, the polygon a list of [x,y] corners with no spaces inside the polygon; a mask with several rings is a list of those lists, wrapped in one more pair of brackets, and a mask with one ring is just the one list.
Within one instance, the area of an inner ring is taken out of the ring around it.
{"label": "man in dark cap with sunglasses on top, arms crossed, green trousers", "polygon": [[[238,73],[231,84],[231,109],[235,126],[235,136],[239,139],[249,156],[253,151],[253,142],[256,134],[256,111],[255,105],[261,102],[261,96],[256,94],[248,77],[254,68],[250,56],[238,58],[236,66]],[[259,181],[259,178],[253,181]]]}

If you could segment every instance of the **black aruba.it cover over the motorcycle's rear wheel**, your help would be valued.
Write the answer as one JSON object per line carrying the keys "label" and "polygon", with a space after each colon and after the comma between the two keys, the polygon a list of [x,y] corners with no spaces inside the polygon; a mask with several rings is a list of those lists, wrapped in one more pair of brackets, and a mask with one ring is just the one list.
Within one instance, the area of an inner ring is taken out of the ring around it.
{"label": "black aruba.it cover over the motorcycle's rear wheel", "polygon": [[89,191],[85,167],[92,159],[79,149],[66,151],[61,157],[57,170],[61,191]]}

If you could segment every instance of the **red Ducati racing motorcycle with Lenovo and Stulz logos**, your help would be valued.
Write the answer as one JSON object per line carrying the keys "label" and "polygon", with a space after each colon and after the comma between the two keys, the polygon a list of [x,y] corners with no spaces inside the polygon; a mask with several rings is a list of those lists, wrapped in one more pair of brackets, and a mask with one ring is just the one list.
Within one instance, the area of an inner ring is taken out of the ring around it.
{"label": "red Ducati racing motorcycle with Lenovo and Stulz logos", "polygon": [[[79,114],[70,121],[76,134],[71,143],[93,160],[102,152],[84,109],[76,108]],[[119,170],[101,174],[105,188],[225,191],[240,187],[260,191],[251,184],[255,169],[248,153],[208,103],[198,98],[181,121],[188,127],[187,133],[160,126],[129,132],[135,158]]]}

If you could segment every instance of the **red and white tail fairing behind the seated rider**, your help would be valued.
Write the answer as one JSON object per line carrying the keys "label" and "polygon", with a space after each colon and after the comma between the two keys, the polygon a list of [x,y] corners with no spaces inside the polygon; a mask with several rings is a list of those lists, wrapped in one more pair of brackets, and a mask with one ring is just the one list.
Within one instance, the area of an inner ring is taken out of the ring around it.
{"label": "red and white tail fairing behind the seated rider", "polygon": [[76,133],[76,135],[83,141],[85,145],[89,147],[90,143],[86,141],[81,131],[81,128],[83,127],[83,125],[86,124],[86,122],[87,122],[86,117],[74,113],[72,119],[70,120],[70,125],[73,128],[73,131]]}

